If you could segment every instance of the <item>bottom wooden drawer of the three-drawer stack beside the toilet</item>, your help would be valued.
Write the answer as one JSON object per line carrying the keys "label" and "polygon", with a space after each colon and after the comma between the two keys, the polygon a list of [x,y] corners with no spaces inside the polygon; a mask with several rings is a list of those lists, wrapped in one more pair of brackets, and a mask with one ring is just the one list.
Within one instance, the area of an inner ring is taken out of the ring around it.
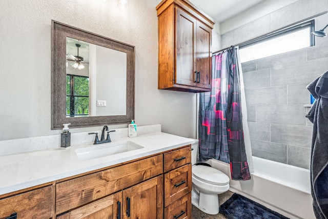
{"label": "bottom wooden drawer of the three-drawer stack beside the toilet", "polygon": [[164,209],[165,219],[191,218],[191,192]]}

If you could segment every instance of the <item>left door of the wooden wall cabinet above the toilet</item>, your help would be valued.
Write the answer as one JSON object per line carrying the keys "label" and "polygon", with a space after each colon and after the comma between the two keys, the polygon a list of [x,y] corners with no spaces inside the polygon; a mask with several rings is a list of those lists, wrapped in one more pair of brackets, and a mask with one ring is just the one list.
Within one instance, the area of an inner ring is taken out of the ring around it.
{"label": "left door of the wooden wall cabinet above the toilet", "polygon": [[176,8],[176,84],[196,85],[196,22],[194,17]]}

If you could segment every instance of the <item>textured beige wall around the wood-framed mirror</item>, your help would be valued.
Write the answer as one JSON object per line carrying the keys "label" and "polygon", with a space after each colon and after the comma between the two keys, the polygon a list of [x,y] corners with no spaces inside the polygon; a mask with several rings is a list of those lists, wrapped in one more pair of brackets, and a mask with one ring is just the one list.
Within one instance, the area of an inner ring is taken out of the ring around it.
{"label": "textured beige wall around the wood-framed mirror", "polygon": [[121,11],[116,0],[0,1],[0,141],[60,133],[50,129],[51,19],[134,45],[136,123],[196,137],[196,94],[157,89],[156,2],[147,2]]}

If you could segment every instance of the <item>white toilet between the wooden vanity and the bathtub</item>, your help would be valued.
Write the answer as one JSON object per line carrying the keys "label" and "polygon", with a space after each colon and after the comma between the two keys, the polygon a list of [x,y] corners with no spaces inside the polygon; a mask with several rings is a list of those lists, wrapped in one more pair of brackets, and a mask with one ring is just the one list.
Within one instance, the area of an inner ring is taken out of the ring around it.
{"label": "white toilet between the wooden vanity and the bathtub", "polygon": [[198,140],[195,140],[191,148],[191,203],[205,213],[217,214],[219,212],[218,194],[229,190],[229,177],[215,168],[196,165]]}

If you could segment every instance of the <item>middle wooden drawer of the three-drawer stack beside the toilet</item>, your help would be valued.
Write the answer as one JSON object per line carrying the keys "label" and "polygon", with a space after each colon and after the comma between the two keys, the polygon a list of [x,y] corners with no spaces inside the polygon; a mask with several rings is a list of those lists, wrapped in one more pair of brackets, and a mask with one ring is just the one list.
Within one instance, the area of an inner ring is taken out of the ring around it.
{"label": "middle wooden drawer of the three-drawer stack beside the toilet", "polygon": [[191,192],[191,164],[179,167],[164,176],[165,207]]}

